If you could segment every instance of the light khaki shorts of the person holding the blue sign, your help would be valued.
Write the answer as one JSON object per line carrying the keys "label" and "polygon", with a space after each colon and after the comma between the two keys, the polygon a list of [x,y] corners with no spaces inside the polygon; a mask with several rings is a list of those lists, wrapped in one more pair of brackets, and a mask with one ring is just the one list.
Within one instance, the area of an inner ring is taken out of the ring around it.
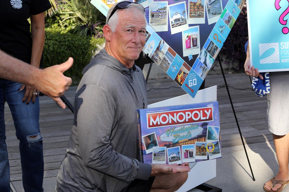
{"label": "light khaki shorts of the person holding the blue sign", "polygon": [[275,135],[289,133],[289,71],[270,72],[267,94],[267,122]]}

